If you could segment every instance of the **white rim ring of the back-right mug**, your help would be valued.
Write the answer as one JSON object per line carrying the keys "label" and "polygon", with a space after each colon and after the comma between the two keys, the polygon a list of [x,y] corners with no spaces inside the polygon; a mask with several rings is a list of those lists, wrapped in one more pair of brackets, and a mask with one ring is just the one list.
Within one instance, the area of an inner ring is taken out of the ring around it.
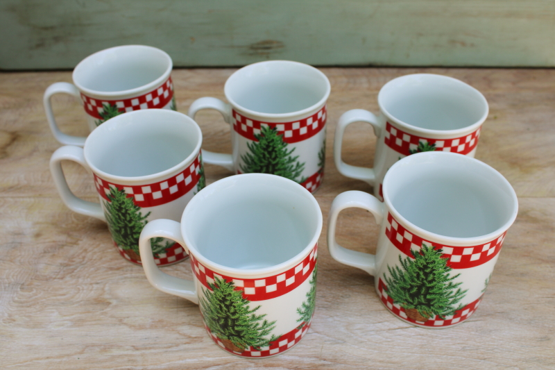
{"label": "white rim ring of the back-right mug", "polygon": [[[459,84],[459,85],[463,85],[465,87],[470,87],[471,90],[473,90],[473,92],[475,92],[477,94],[477,96],[479,96],[479,99],[482,101],[482,103],[484,103],[484,106],[486,107],[486,111],[484,112],[484,115],[482,115],[482,117],[480,117],[480,119],[478,119],[475,123],[468,125],[468,126],[464,126],[462,128],[456,128],[454,130],[434,130],[432,128],[422,128],[422,127],[418,127],[418,126],[413,126],[411,124],[408,124],[405,121],[402,121],[398,118],[396,118],[395,116],[393,116],[390,112],[388,112],[388,110],[386,110],[386,108],[384,107],[384,103],[382,102],[382,99],[384,99],[384,90],[386,89],[386,87],[392,88],[391,85],[393,85],[393,83],[398,83],[400,80],[404,80],[404,79],[409,79],[409,78],[413,78],[415,76],[425,76],[425,78],[440,78],[440,79],[444,79],[444,80],[449,80],[453,83]],[[377,103],[379,106],[379,110],[391,121],[393,121],[394,124],[398,124],[401,127],[404,128],[408,128],[409,130],[415,131],[417,133],[423,134],[423,135],[431,135],[431,136],[456,136],[456,135],[464,135],[465,133],[468,133],[469,131],[475,131],[477,130],[477,128],[479,128],[479,126],[481,126],[481,124],[484,123],[484,121],[486,121],[486,119],[488,118],[489,115],[489,105],[488,105],[488,101],[486,100],[486,97],[484,96],[484,94],[482,94],[479,90],[477,90],[476,87],[473,87],[471,85],[468,85],[468,83],[465,83],[457,78],[453,78],[450,76],[444,76],[443,74],[405,74],[404,76],[399,76],[399,77],[395,77],[393,78],[393,80],[388,81],[385,85],[382,86],[381,89],[379,89],[379,93],[377,95]]]}

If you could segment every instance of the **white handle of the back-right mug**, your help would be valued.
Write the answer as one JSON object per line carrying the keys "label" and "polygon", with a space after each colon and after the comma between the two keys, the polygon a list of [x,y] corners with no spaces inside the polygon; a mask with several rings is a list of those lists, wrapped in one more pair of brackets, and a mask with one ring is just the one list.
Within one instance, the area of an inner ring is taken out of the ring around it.
{"label": "white handle of the back-right mug", "polygon": [[339,170],[343,176],[350,178],[356,178],[357,180],[366,181],[371,186],[374,186],[376,180],[376,174],[373,168],[358,167],[348,165],[343,160],[341,160],[341,144],[343,144],[343,133],[345,128],[350,124],[355,122],[366,122],[371,124],[374,128],[374,135],[379,137],[382,132],[382,124],[379,124],[377,117],[364,109],[353,109],[348,112],[343,113],[339,118],[337,127],[335,129],[335,139],[334,139],[334,161],[335,167]]}

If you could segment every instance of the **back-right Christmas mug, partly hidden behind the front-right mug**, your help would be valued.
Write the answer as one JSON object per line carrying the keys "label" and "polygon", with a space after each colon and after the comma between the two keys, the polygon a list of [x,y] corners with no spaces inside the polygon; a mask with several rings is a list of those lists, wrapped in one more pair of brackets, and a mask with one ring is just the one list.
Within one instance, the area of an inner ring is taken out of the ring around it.
{"label": "back-right Christmas mug, partly hidden behind the front-right mug", "polygon": [[[474,87],[437,74],[394,78],[379,90],[379,114],[354,109],[336,126],[334,161],[341,174],[366,181],[383,201],[382,182],[401,158],[422,151],[447,151],[474,157],[488,102]],[[374,167],[347,165],[341,159],[345,128],[366,122],[377,137]]]}

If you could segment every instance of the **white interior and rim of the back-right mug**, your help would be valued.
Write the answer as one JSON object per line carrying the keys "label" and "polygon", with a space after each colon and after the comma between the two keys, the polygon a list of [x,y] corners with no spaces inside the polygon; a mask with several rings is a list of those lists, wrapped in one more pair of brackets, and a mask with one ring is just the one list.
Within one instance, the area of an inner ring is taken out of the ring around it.
{"label": "white interior and rim of the back-right mug", "polygon": [[474,87],[437,74],[409,74],[389,81],[378,94],[385,115],[408,126],[452,131],[481,124],[488,102]]}

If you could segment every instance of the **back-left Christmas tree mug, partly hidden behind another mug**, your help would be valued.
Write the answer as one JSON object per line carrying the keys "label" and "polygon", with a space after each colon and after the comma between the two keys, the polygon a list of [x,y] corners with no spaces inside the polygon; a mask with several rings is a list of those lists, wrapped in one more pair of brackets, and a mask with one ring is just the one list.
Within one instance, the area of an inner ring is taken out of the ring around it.
{"label": "back-left Christmas tree mug, partly hidden behind another mug", "polygon": [[144,45],[112,47],[88,56],[74,69],[74,83],[57,82],[44,92],[44,110],[50,129],[61,144],[83,146],[86,137],[60,131],[51,96],[75,96],[83,104],[89,130],[124,112],[147,108],[177,110],[171,83],[171,58]]}

